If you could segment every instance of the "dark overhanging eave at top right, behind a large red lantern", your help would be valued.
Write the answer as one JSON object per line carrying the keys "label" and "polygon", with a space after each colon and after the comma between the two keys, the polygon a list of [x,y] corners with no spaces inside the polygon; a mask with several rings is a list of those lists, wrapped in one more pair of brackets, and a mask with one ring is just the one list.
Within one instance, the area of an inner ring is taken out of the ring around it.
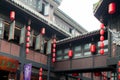
{"label": "dark overhanging eave at top right, behind a large red lantern", "polygon": [[[110,15],[108,13],[108,5],[111,2],[116,2],[117,8],[116,8],[116,13],[113,15]],[[102,23],[107,25],[108,20],[111,17],[117,17],[120,13],[120,1],[119,0],[100,0],[98,3],[97,7],[94,10],[94,16]]]}

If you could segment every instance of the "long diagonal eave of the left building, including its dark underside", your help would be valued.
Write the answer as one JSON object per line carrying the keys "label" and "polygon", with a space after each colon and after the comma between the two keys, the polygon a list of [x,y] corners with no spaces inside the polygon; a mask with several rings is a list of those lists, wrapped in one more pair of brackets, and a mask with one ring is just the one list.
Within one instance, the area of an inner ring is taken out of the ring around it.
{"label": "long diagonal eave of the left building, including its dark underside", "polygon": [[[16,9],[17,12],[20,11],[22,13],[21,16],[27,16],[26,18],[34,19],[33,21],[36,23],[37,22],[39,22],[39,24],[42,23],[43,26],[46,26],[46,28],[48,28],[48,30],[52,30],[51,35],[54,35],[55,33],[57,33],[59,37],[63,37],[63,38],[72,36],[70,33],[66,32],[65,30],[61,29],[59,26],[57,26],[53,22],[46,19],[43,15],[38,13],[36,10],[31,9],[27,5],[21,3],[19,0],[2,0],[2,2],[7,3],[7,5],[10,5],[11,6],[10,10]],[[40,27],[37,27],[37,29],[40,30]],[[48,34],[50,33],[48,32]]]}

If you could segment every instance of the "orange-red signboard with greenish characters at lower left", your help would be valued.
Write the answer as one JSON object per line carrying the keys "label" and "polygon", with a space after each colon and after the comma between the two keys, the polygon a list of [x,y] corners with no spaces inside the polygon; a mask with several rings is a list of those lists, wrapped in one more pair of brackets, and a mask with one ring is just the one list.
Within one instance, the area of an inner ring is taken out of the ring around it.
{"label": "orange-red signboard with greenish characters at lower left", "polygon": [[16,70],[18,69],[18,65],[18,60],[6,56],[0,56],[0,70],[16,72]]}

